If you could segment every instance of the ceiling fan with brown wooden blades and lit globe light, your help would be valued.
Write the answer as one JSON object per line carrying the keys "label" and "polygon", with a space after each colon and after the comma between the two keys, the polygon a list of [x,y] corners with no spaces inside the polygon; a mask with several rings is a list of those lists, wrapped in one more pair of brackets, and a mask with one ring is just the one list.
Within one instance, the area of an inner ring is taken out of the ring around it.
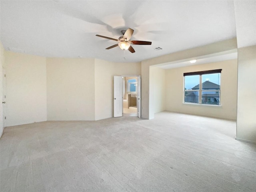
{"label": "ceiling fan with brown wooden blades and lit globe light", "polygon": [[114,38],[110,38],[110,37],[106,37],[106,36],[102,36],[102,35],[96,35],[96,36],[114,40],[114,41],[118,42],[118,44],[114,44],[106,49],[111,49],[116,46],[119,46],[122,50],[128,49],[131,53],[135,52],[135,50],[134,50],[134,48],[132,48],[131,44],[133,44],[133,45],[151,45],[152,44],[152,42],[150,42],[150,41],[135,41],[135,40],[130,41],[130,38],[132,37],[133,32],[134,32],[134,30],[131,28],[128,28],[127,30],[122,30],[121,33],[123,34],[123,36],[120,36],[118,39],[114,39]]}

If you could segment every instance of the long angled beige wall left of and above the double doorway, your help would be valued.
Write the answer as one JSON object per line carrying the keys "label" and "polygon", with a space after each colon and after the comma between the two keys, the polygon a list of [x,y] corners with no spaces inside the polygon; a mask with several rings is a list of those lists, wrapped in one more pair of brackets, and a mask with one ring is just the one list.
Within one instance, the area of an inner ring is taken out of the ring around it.
{"label": "long angled beige wall left of and above the double doorway", "polygon": [[140,63],[42,58],[6,52],[6,126],[46,120],[110,118],[113,76],[140,75],[140,70]]}

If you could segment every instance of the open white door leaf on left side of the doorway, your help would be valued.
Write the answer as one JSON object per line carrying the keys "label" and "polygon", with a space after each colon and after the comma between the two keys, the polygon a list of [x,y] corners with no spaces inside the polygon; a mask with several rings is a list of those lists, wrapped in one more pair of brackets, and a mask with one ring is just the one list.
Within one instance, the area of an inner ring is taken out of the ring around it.
{"label": "open white door leaf on left side of the doorway", "polygon": [[123,115],[123,77],[114,76],[114,117]]}

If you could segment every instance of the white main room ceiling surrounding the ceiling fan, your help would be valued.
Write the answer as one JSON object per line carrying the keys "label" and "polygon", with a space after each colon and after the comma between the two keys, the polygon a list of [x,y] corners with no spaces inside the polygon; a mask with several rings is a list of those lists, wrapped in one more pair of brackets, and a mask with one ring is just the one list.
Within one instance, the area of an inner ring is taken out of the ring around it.
{"label": "white main room ceiling surrounding the ceiling fan", "polygon": [[[6,50],[45,57],[140,62],[236,37],[233,1],[0,1],[1,42]],[[239,10],[241,12],[241,10]],[[134,29],[135,53],[95,36]],[[154,50],[161,47],[162,50]],[[125,56],[125,60],[124,60]]]}

